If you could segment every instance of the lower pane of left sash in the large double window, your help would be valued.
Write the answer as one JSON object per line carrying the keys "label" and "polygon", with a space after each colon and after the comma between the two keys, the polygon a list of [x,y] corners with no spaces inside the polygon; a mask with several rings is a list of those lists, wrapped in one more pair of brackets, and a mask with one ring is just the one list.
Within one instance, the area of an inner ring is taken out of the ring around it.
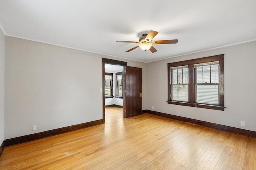
{"label": "lower pane of left sash in the large double window", "polygon": [[172,100],[188,102],[188,84],[172,85]]}

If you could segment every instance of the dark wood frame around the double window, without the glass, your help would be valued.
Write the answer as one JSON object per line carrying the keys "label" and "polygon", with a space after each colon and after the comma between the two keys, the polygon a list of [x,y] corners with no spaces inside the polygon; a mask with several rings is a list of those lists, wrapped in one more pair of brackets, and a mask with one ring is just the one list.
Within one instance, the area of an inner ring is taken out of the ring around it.
{"label": "dark wood frame around the double window, without the glass", "polygon": [[[195,99],[195,88],[194,88],[194,64],[200,63],[210,63],[214,61],[219,61],[219,105],[210,105],[210,104],[196,104]],[[176,102],[171,101],[171,72],[170,68],[188,65],[188,102]],[[191,107],[200,107],[206,109],[215,109],[224,111],[224,54],[214,55],[210,57],[204,57],[199,59],[192,59],[186,61],[179,61],[175,63],[168,63],[168,104],[176,104],[182,106],[191,106]]]}

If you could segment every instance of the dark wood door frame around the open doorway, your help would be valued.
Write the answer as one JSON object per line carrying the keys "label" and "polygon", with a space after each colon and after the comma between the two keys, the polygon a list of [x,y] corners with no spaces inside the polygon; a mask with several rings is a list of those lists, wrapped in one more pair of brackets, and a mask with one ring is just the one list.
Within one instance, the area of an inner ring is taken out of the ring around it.
{"label": "dark wood door frame around the open doorway", "polygon": [[[105,123],[105,64],[119,65],[123,66],[123,75],[127,62],[117,61],[112,59],[102,58],[102,123]],[[123,85],[125,84],[125,76],[123,76]],[[124,90],[124,87],[123,87]],[[125,93],[123,93],[123,117],[124,117],[124,106],[125,106]]]}

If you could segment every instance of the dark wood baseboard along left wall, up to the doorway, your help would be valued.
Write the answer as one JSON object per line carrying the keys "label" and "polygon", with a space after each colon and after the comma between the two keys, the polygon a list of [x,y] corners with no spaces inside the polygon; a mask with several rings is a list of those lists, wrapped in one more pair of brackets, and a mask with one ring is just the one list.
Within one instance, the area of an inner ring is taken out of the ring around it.
{"label": "dark wood baseboard along left wall, up to the doorway", "polygon": [[44,131],[44,132],[40,132],[40,133],[34,133],[31,135],[25,135],[25,136],[21,136],[21,137],[15,137],[12,139],[6,139],[6,140],[4,140],[4,147],[9,147],[11,145],[16,145],[16,144],[20,144],[20,143],[34,141],[37,139],[42,139],[45,137],[59,135],[62,133],[67,133],[70,131],[75,131],[78,129],[83,129],[83,128],[94,126],[94,125],[100,125],[100,124],[102,124],[102,122],[103,122],[103,119],[100,119],[100,120],[96,120],[96,121],[81,123],[78,125],[72,125],[72,126],[68,126],[68,127],[62,127],[59,129],[53,129],[53,130]]}

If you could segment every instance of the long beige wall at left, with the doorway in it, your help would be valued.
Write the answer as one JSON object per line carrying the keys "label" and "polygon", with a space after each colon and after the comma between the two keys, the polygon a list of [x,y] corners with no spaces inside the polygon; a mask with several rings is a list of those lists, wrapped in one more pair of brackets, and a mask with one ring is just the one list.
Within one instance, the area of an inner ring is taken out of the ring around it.
{"label": "long beige wall at left, with the doorway in it", "polygon": [[145,63],[5,39],[5,139],[102,119],[102,57],[145,74]]}

